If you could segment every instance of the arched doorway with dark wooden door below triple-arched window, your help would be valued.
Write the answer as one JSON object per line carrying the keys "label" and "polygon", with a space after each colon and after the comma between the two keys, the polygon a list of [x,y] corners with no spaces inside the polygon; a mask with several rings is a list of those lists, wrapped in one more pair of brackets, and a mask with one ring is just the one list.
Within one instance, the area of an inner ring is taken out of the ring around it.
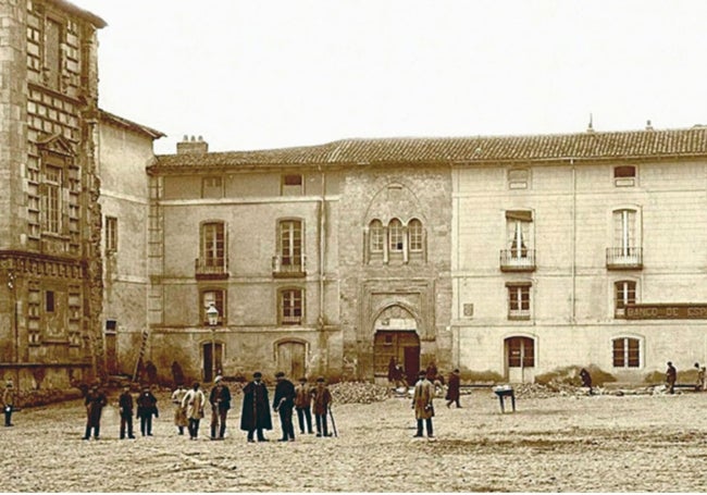
{"label": "arched doorway with dark wooden door below triple-arched window", "polygon": [[420,337],[418,322],[406,308],[392,306],[375,320],[373,369],[376,380],[386,380],[390,358],[402,366],[409,385],[420,371]]}

